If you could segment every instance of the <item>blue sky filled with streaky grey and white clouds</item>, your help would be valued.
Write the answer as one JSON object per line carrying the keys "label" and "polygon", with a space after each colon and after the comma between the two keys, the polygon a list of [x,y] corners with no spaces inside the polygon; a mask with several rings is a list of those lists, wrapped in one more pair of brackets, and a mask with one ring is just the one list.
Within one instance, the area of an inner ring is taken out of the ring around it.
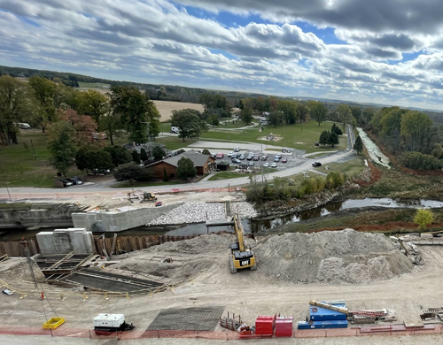
{"label": "blue sky filled with streaky grey and white clouds", "polygon": [[0,65],[443,111],[441,0],[0,0]]}

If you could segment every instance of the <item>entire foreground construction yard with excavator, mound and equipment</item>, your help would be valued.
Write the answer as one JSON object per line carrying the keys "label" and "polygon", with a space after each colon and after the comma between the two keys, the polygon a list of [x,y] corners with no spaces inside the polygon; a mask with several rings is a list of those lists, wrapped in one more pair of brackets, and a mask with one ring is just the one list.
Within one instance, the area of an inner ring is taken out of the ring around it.
{"label": "entire foreground construction yard with excavator, mound and equipment", "polygon": [[343,344],[359,337],[362,344],[365,335],[383,334],[391,337],[380,343],[399,335],[403,344],[418,335],[443,341],[438,237],[346,229],[253,238],[237,213],[220,221],[230,233],[130,253],[116,252],[117,235],[104,250],[86,230],[66,230],[94,253],[0,258],[0,338],[280,344],[274,338],[327,337]]}

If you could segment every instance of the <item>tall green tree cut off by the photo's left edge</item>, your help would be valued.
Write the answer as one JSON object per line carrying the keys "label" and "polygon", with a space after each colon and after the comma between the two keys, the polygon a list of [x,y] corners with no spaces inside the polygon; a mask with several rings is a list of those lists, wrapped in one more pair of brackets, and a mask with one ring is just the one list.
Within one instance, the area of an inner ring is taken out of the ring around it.
{"label": "tall green tree cut off by the photo's left edge", "polygon": [[18,143],[19,127],[33,115],[34,96],[24,82],[3,75],[0,77],[0,142]]}

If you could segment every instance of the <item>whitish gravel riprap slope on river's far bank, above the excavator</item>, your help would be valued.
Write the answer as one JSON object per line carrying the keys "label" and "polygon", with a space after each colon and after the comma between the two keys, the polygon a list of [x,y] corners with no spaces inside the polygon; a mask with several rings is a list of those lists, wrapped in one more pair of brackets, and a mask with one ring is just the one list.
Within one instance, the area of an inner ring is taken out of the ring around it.
{"label": "whitish gravel riprap slope on river's far bank, above the excavator", "polygon": [[[231,203],[231,211],[238,213],[241,219],[250,219],[257,216],[257,212],[250,203]],[[224,219],[224,203],[184,203],[158,219],[152,220],[149,226],[202,223],[207,219]]]}

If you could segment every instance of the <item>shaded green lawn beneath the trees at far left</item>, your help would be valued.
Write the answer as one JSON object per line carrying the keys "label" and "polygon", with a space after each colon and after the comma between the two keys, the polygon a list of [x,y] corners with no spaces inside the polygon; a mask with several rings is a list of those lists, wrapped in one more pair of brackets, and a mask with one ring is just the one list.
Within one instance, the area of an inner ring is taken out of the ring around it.
{"label": "shaded green lawn beneath the trees at far left", "polygon": [[[35,148],[33,157],[31,140]],[[27,145],[27,149],[24,147]],[[0,175],[2,187],[54,187],[53,177],[56,170],[49,165],[49,152],[46,149],[47,136],[39,129],[23,130],[18,145],[0,147]],[[76,168],[69,172],[71,176],[82,175]]]}

